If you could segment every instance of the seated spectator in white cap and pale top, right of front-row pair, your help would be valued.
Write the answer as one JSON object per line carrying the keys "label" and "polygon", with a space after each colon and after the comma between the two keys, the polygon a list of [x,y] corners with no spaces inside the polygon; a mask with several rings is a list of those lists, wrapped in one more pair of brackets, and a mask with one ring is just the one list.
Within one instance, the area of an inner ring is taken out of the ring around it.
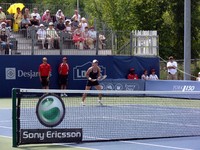
{"label": "seated spectator in white cap and pale top, right of front-row pair", "polygon": [[48,45],[48,48],[52,48],[54,49],[54,42],[57,43],[57,48],[59,47],[60,45],[60,37],[58,36],[56,30],[53,28],[54,25],[53,25],[53,22],[50,22],[49,23],[49,27],[47,28],[47,39],[49,41],[49,45]]}

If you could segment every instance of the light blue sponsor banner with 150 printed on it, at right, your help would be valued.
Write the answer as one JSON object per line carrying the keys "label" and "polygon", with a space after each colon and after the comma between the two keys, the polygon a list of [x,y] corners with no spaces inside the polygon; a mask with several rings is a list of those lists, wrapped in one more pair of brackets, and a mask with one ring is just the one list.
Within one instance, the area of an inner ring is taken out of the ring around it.
{"label": "light blue sponsor banner with 150 printed on it, at right", "polygon": [[[147,80],[145,84],[146,91],[200,91],[200,84],[197,81],[183,81],[183,80]],[[174,97],[174,98],[198,98],[198,94],[157,94],[150,96],[161,96],[161,97]]]}

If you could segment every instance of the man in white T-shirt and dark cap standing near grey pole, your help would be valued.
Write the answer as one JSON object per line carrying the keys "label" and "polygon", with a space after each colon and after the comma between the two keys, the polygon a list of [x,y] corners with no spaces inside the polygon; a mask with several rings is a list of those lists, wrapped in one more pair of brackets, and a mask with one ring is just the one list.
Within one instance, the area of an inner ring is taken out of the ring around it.
{"label": "man in white T-shirt and dark cap standing near grey pole", "polygon": [[177,62],[174,60],[173,56],[170,56],[167,62],[168,80],[177,80],[177,67]]}

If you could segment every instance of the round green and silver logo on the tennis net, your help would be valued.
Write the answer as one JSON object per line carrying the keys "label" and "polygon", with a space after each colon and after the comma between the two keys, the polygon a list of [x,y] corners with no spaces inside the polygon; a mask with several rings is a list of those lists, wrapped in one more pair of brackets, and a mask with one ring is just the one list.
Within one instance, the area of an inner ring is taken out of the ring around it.
{"label": "round green and silver logo on the tennis net", "polygon": [[65,116],[65,106],[60,97],[54,94],[42,96],[36,106],[36,115],[46,127],[59,125]]}

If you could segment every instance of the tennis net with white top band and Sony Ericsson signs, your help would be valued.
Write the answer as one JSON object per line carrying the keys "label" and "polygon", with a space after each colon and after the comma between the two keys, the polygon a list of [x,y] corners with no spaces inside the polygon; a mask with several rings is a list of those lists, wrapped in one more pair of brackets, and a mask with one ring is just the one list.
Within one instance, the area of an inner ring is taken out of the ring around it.
{"label": "tennis net with white top band and Sony Ericsson signs", "polygon": [[200,136],[199,99],[171,95],[199,97],[200,91],[13,89],[13,146]]}

